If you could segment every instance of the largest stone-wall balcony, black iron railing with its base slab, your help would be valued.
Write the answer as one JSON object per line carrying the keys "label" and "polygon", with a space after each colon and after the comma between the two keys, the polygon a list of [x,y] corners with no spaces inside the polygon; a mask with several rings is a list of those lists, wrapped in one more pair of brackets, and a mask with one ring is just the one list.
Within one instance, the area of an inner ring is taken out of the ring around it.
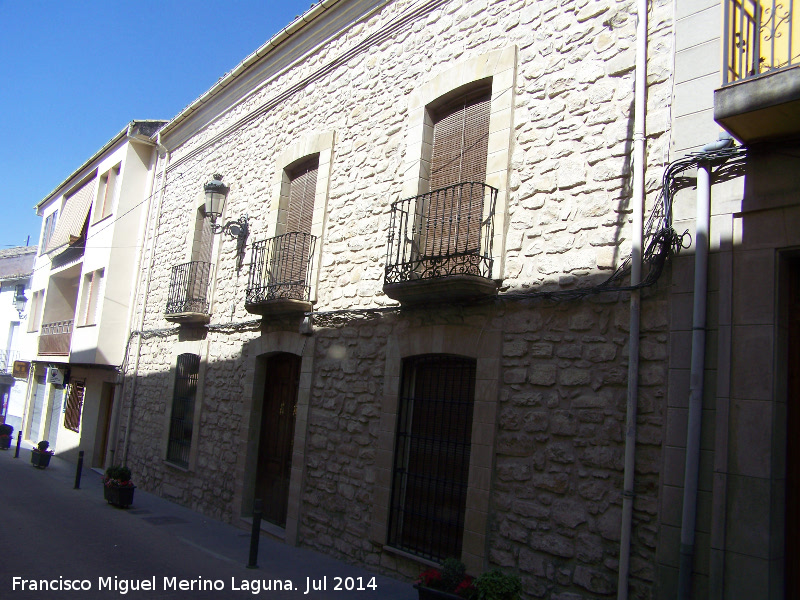
{"label": "largest stone-wall balcony, black iron railing with its base slab", "polygon": [[497,189],[459,183],[392,203],[384,293],[404,304],[489,296]]}

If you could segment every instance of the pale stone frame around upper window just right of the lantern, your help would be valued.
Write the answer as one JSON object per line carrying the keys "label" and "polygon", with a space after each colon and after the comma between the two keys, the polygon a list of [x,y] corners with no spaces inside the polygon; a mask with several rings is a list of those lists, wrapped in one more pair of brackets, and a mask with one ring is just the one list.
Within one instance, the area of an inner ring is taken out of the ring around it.
{"label": "pale stone frame around upper window just right of the lantern", "polygon": [[[267,237],[286,233],[286,217],[289,208],[289,171],[300,162],[319,156],[317,164],[317,186],[314,192],[314,213],[311,221],[311,235],[317,238],[314,256],[311,260],[311,303],[317,301],[317,289],[322,264],[323,232],[328,214],[328,189],[330,187],[333,164],[334,132],[312,133],[288,146],[275,161],[275,176],[272,182],[272,195],[267,215]],[[270,233],[270,227],[272,233]]]}

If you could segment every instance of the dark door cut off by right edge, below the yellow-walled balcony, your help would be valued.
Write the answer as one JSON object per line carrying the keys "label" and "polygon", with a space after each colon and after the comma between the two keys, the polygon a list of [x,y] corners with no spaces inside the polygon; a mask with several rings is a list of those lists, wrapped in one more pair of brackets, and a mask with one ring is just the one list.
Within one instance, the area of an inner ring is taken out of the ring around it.
{"label": "dark door cut off by right edge, below the yellow-walled balcony", "polygon": [[789,272],[789,356],[786,398],[786,598],[800,598],[800,259]]}

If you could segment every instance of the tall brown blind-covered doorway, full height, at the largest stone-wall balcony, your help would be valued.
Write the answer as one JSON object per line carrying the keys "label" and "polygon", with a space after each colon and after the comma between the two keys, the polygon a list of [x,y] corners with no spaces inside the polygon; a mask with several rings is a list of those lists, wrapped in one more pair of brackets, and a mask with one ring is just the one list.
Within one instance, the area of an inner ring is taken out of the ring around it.
{"label": "tall brown blind-covered doorway, full height, at the largest stone-wall balcony", "polygon": [[423,258],[440,261],[443,274],[480,252],[490,106],[491,88],[481,87],[431,111],[430,192],[417,219]]}

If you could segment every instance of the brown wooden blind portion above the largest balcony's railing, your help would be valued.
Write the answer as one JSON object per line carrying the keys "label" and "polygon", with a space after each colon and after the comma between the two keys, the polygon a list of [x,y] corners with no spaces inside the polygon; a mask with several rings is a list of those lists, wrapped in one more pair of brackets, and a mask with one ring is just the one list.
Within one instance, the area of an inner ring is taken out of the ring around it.
{"label": "brown wooden blind portion above the largest balcony's railing", "polygon": [[433,114],[430,189],[486,181],[491,88],[482,87]]}

